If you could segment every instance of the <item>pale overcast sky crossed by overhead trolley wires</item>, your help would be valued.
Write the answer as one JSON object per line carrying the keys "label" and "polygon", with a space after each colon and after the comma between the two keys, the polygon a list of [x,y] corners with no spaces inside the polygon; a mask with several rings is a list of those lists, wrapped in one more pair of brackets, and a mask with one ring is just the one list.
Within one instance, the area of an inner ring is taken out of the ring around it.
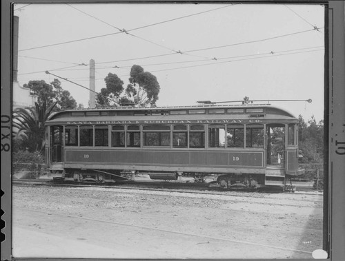
{"label": "pale overcast sky crossed by overhead trolley wires", "polygon": [[[158,106],[244,96],[311,98],[313,103],[271,104],[305,119],[323,118],[324,6],[26,3],[16,4],[14,15],[19,17],[21,85],[52,82],[49,70],[89,87],[88,64],[94,59],[97,92],[109,72],[126,87],[130,67],[137,64],[157,76]],[[60,81],[88,107],[87,90]]]}

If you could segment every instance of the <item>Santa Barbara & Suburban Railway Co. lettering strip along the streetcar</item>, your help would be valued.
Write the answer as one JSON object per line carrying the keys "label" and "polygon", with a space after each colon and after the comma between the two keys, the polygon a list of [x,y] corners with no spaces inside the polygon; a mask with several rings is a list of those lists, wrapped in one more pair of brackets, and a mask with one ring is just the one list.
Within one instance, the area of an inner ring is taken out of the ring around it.
{"label": "Santa Barbara & Suburban Railway Co. lettering strip along the streetcar", "polygon": [[262,123],[261,120],[174,120],[174,121],[66,121],[67,125],[124,125],[124,124],[204,124],[204,123]]}

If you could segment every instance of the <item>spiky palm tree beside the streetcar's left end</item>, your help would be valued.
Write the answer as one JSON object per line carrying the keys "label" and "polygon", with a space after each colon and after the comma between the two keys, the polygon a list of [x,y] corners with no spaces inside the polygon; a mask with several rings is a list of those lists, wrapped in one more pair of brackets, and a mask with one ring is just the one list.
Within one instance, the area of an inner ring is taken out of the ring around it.
{"label": "spiky palm tree beside the streetcar's left end", "polygon": [[28,148],[29,152],[41,152],[45,145],[45,123],[56,104],[47,108],[46,102],[42,105],[34,103],[34,107],[14,110],[12,121],[14,138],[20,141],[21,147]]}

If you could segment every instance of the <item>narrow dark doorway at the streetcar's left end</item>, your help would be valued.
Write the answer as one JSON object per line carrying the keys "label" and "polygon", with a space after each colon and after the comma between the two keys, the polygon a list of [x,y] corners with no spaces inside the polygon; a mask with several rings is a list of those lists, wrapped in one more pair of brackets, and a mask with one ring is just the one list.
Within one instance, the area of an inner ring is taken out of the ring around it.
{"label": "narrow dark doorway at the streetcar's left end", "polygon": [[61,163],[63,159],[63,126],[50,127],[50,160],[52,163]]}

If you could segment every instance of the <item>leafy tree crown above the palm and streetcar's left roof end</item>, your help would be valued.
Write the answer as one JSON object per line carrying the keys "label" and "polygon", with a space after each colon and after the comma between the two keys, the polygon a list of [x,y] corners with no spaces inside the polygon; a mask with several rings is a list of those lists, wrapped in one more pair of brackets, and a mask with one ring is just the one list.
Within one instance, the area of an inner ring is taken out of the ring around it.
{"label": "leafy tree crown above the palm and streetcar's left roof end", "polygon": [[38,96],[37,103],[40,106],[46,103],[46,106],[50,107],[57,103],[54,107],[55,112],[77,108],[75,98],[70,95],[70,92],[62,89],[61,82],[58,79],[54,79],[50,84],[43,80],[29,81],[23,87],[30,88],[31,93]]}

